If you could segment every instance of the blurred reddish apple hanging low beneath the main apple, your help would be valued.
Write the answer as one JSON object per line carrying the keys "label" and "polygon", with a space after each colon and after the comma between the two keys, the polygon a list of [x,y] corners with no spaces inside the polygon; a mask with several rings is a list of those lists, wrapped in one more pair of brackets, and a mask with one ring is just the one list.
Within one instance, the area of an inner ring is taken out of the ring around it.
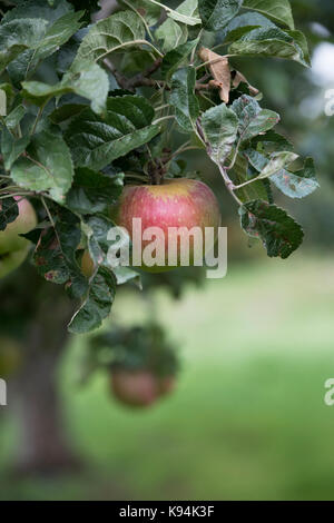
{"label": "blurred reddish apple hanging low beneath the main apple", "polygon": [[148,407],[160,396],[171,392],[174,377],[155,375],[149,369],[117,369],[111,373],[111,391],[115,397],[130,407]]}

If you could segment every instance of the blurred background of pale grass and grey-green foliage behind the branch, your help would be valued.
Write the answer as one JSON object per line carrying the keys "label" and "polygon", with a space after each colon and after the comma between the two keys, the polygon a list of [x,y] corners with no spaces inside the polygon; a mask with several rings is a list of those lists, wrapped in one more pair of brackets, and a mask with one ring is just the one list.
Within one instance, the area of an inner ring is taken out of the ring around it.
{"label": "blurred background of pale grass and grey-green foliage behind the branch", "polygon": [[[89,339],[71,337],[55,363],[57,402],[52,394],[48,401],[60,405],[57,431],[67,434],[78,468],[46,474],[19,466],[33,438],[33,431],[22,438],[26,418],[36,412],[28,392],[26,402],[11,403],[12,385],[0,408],[0,500],[334,499],[334,406],[324,403],[324,383],[334,377],[334,116],[324,111],[325,92],[334,89],[334,3],[292,6],[310,39],[312,70],[264,59],[243,60],[242,70],[264,92],[262,103],[282,115],[279,131],[316,159],[321,189],[303,201],[279,197],[303,224],[304,246],[285,262],[249,248],[213,165],[189,156],[222,201],[228,275],[198,280],[178,273],[164,286],[148,283],[145,295],[127,287],[110,320],[111,328],[141,325],[154,315],[164,325],[181,361],[175,393],[131,411],[112,398],[105,373],[79,385]],[[20,323],[31,288],[14,279]],[[0,287],[2,303],[14,284]],[[6,334],[4,315],[0,327]],[[38,354],[27,354],[33,379],[42,367]]]}

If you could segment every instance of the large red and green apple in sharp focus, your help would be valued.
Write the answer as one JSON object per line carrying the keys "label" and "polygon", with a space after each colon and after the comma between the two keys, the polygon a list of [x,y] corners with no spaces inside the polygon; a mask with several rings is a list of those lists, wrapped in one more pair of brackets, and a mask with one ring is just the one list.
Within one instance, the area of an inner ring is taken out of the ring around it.
{"label": "large red and green apple in sharp focus", "polygon": [[[217,235],[220,225],[220,211],[218,201],[212,189],[203,181],[188,178],[167,179],[163,185],[126,186],[120,197],[117,209],[114,209],[114,219],[118,226],[125,227],[134,241],[132,219],[141,218],[141,230],[148,227],[159,227],[164,231],[163,251],[165,265],[155,264],[148,267],[141,259],[140,267],[148,272],[164,272],[180,265],[180,243],[183,236],[188,235],[193,227],[202,229],[203,237],[206,227],[214,228]],[[168,265],[168,230],[170,227],[183,228],[177,243],[177,263]],[[159,240],[158,240],[159,241]],[[150,240],[143,239],[143,249]],[[159,245],[159,244],[158,244]],[[189,265],[198,256],[204,258],[206,250],[212,250],[213,245],[195,245],[189,241]],[[200,249],[200,251],[198,250]]]}

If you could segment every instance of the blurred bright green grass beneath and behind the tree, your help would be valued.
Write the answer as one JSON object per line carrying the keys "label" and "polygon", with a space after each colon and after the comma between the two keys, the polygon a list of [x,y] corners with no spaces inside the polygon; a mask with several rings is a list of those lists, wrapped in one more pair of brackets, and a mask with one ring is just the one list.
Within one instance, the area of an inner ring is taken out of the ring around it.
{"label": "blurred bright green grass beneath and behind the tree", "polygon": [[[176,393],[134,412],[110,398],[105,376],[78,388],[85,338],[73,339],[61,391],[88,467],[48,481],[2,473],[0,499],[333,500],[334,407],[323,399],[334,377],[333,260],[304,250],[234,264],[181,302],[158,292],[155,309],[181,346]],[[114,310],[131,323],[147,313],[130,290]],[[2,440],[0,470],[16,448],[10,421]]]}

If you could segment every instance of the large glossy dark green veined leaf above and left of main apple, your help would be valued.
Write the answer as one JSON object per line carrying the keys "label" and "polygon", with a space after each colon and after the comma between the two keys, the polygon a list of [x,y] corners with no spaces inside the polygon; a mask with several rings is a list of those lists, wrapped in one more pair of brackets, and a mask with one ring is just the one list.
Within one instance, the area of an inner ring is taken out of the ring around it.
{"label": "large glossy dark green veined leaf above and left of main apple", "polygon": [[99,170],[147,144],[160,130],[151,124],[154,116],[153,107],[139,96],[108,98],[105,119],[86,109],[66,134],[76,166]]}

